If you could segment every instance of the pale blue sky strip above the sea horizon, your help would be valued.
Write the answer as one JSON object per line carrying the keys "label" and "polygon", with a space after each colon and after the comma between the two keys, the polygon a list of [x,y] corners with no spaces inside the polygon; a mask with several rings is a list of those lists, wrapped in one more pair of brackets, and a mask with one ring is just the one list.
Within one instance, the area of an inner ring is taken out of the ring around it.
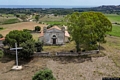
{"label": "pale blue sky strip above the sea horizon", "polygon": [[120,5],[120,0],[0,0],[0,5],[101,6]]}

